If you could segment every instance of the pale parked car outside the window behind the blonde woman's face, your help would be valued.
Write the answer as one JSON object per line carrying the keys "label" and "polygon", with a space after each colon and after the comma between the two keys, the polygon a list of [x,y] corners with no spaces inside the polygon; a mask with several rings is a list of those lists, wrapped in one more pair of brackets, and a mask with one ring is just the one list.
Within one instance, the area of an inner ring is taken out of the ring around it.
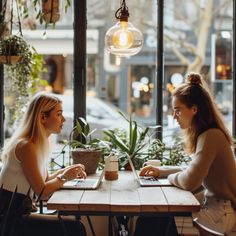
{"label": "pale parked car outside the window behind the blonde woman's face", "polygon": [[[57,141],[68,140],[73,128],[73,97],[69,95],[56,95],[62,101],[63,114],[66,119]],[[96,97],[87,97],[86,119],[91,130],[96,129],[93,138],[101,138],[104,129],[125,129],[128,130],[128,122],[118,113],[118,108]]]}

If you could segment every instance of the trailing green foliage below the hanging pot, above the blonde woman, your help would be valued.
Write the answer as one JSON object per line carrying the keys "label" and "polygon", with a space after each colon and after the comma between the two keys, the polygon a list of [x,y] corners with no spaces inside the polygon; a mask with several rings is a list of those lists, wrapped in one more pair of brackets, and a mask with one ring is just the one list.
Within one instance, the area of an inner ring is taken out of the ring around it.
{"label": "trailing green foliage below the hanging pot, above the blonde woman", "polygon": [[[24,61],[26,63],[27,59],[23,59],[21,63]],[[19,64],[17,66],[5,66],[4,97],[8,101],[6,102],[6,109],[9,112],[9,133],[14,131],[15,121],[22,117],[29,96],[48,85],[46,80],[41,79],[42,73],[46,72],[44,65],[43,56],[32,52],[30,70],[25,70],[28,73],[27,77],[21,73],[24,67],[19,66]]]}

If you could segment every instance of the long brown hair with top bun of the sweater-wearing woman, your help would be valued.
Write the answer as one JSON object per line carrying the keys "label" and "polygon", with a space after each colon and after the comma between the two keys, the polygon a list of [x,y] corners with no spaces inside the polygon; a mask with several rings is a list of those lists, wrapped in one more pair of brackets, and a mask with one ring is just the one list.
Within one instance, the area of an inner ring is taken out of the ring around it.
{"label": "long brown hair with top bun of the sweater-wearing woman", "polygon": [[192,154],[196,151],[198,136],[210,128],[220,129],[228,142],[230,144],[233,143],[233,139],[224,124],[223,117],[200,74],[189,73],[186,83],[177,87],[172,96],[178,98],[188,108],[194,105],[198,108],[198,112],[193,117],[191,127],[183,131],[185,148],[188,153]]}

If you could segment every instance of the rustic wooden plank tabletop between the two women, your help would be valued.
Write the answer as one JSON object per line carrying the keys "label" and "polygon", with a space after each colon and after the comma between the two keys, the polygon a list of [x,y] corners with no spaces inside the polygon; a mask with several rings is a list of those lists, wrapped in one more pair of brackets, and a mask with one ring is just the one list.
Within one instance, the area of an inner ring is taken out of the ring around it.
{"label": "rustic wooden plank tabletop between the two women", "polygon": [[115,181],[103,180],[97,190],[60,190],[47,203],[60,214],[191,215],[200,210],[194,195],[173,186],[140,187],[131,171]]}

